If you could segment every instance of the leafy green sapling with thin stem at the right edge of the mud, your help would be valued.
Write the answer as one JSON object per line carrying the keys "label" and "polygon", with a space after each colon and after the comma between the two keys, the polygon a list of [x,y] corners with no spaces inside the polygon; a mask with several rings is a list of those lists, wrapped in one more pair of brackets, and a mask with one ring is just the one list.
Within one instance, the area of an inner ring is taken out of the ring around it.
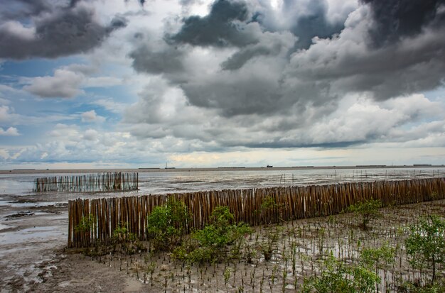
{"label": "leafy green sapling with thin stem at the right edge of the mud", "polygon": [[436,268],[445,263],[445,219],[429,215],[409,226],[405,240],[409,263],[414,268],[431,267],[431,283],[436,280]]}

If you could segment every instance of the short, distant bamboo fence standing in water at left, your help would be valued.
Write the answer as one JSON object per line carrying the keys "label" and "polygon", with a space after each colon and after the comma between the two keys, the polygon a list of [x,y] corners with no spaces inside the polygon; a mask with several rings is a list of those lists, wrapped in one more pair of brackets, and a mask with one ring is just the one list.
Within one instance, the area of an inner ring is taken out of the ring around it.
{"label": "short, distant bamboo fence standing in water at left", "polygon": [[42,177],[34,181],[34,192],[109,192],[138,189],[138,173],[106,172],[97,174]]}

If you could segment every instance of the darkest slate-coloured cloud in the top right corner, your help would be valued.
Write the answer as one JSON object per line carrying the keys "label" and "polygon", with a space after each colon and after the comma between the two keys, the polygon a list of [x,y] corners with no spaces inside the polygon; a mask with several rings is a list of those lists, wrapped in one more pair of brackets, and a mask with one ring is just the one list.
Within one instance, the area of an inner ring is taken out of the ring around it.
{"label": "darkest slate-coloured cloud in the top right corner", "polygon": [[[370,30],[374,45],[393,43],[403,37],[417,35],[434,23],[443,26],[445,17],[438,15],[445,0],[363,0],[372,9],[375,26]],[[437,17],[439,16],[439,17]]]}

